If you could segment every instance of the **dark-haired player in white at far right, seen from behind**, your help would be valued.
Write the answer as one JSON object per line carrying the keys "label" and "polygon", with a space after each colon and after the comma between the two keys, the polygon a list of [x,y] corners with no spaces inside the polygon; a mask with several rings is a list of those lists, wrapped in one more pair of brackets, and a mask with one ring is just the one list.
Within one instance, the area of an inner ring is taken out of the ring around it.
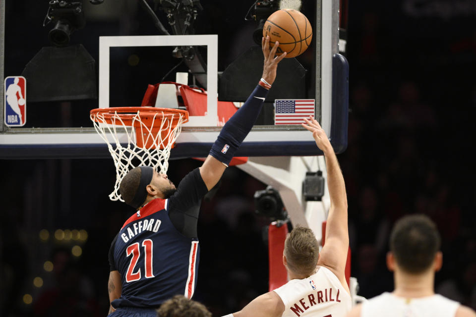
{"label": "dark-haired player in white at far right, seen from behind", "polygon": [[470,308],[433,290],[443,261],[440,244],[436,225],[427,216],[408,215],[397,221],[387,254],[395,290],[357,305],[348,317],[476,317]]}

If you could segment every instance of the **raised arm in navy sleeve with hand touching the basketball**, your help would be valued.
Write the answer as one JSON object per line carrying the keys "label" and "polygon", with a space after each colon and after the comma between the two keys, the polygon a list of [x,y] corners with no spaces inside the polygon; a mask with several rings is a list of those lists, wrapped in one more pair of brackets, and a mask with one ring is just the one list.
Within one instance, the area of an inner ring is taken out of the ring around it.
{"label": "raised arm in navy sleeve with hand touching the basketball", "polygon": [[262,39],[261,48],[264,55],[263,75],[253,93],[248,97],[243,106],[228,120],[222,128],[220,135],[215,141],[210,154],[200,167],[200,174],[208,190],[215,186],[222,177],[225,168],[233,159],[241,142],[253,127],[256,118],[261,111],[268,90],[276,79],[278,63],[286,56],[286,53],[276,56],[279,43],[270,50],[269,36]]}

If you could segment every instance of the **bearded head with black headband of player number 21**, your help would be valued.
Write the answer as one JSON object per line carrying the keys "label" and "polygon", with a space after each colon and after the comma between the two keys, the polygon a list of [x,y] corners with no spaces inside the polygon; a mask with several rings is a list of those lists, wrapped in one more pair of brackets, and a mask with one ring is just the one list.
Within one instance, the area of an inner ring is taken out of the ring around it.
{"label": "bearded head with black headband of player number 21", "polygon": [[131,169],[119,184],[119,193],[127,205],[140,208],[147,198],[169,198],[177,189],[166,174],[150,166]]}

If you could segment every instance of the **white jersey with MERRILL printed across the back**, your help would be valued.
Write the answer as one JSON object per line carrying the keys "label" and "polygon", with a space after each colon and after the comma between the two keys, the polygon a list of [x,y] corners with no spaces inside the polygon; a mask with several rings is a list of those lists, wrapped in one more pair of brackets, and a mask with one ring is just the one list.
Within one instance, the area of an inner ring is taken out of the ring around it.
{"label": "white jersey with MERRILL printed across the back", "polygon": [[292,279],[274,290],[281,297],[283,317],[345,317],[352,308],[351,295],[327,267],[303,279]]}

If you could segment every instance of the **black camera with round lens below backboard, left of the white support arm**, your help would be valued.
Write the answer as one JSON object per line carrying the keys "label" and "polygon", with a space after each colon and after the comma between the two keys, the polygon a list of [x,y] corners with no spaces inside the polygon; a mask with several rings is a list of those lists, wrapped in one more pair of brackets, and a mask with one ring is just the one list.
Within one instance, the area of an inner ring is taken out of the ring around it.
{"label": "black camera with round lens below backboard, left of the white support arm", "polygon": [[265,190],[254,193],[255,212],[271,220],[285,220],[288,213],[284,210],[283,202],[277,190],[268,186]]}

